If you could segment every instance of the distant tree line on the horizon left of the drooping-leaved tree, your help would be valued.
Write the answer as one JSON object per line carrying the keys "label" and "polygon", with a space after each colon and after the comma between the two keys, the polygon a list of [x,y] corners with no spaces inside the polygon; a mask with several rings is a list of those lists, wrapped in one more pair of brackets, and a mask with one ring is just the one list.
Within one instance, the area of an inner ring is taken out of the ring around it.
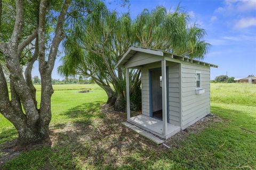
{"label": "distant tree line on the horizon left of the drooping-leaved tree", "polygon": [[[52,78],[52,84],[93,84],[93,79],[84,79],[84,78],[65,78],[65,79],[53,79]],[[33,84],[41,84],[41,79],[38,76],[33,77]]]}

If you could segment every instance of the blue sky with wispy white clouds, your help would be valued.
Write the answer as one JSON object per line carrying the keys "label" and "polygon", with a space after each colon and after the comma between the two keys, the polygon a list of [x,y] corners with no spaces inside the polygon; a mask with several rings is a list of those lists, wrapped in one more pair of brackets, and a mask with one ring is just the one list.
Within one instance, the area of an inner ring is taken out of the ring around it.
{"label": "blue sky with wispy white clouds", "polygon": [[[211,79],[226,74],[235,78],[256,75],[256,0],[130,0],[129,3],[129,7],[122,7],[118,1],[106,1],[110,10],[116,10],[119,14],[130,12],[132,19],[144,9],[151,11],[161,5],[172,12],[180,4],[181,10],[189,13],[190,24],[197,23],[206,30],[205,41],[211,47],[203,61],[219,66],[211,68]],[[63,79],[57,72],[60,64],[60,58],[57,58],[52,72],[54,79]],[[35,63],[32,75],[39,76],[38,63]]]}

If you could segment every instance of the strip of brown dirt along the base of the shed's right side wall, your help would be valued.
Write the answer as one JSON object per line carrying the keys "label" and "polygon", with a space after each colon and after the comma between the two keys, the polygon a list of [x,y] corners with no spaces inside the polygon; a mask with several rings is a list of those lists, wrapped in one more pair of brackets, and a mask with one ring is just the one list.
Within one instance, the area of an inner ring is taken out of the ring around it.
{"label": "strip of brown dirt along the base of the shed's right side wall", "polygon": [[206,127],[209,127],[212,123],[222,122],[222,119],[216,115],[209,114],[202,118],[201,120],[198,120],[195,124],[189,126],[183,131],[178,132],[177,134],[173,135],[168,139],[165,144],[169,147],[175,147],[178,148],[181,141],[184,141],[187,139],[187,137],[190,134],[198,133],[203,131]]}

